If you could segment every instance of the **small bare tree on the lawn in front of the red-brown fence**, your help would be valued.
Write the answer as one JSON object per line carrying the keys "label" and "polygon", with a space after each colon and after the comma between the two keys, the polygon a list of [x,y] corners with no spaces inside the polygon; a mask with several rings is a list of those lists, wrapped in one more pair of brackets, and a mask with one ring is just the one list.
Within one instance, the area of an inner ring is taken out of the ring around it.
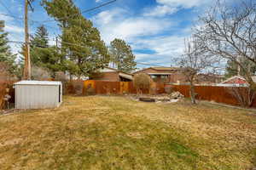
{"label": "small bare tree on the lawn in front of the red-brown fence", "polygon": [[214,73],[218,68],[218,59],[208,55],[200,41],[196,37],[185,39],[183,55],[177,59],[178,65],[183,67],[183,75],[187,78],[190,86],[190,98],[192,104],[195,101],[195,81],[199,73]]}

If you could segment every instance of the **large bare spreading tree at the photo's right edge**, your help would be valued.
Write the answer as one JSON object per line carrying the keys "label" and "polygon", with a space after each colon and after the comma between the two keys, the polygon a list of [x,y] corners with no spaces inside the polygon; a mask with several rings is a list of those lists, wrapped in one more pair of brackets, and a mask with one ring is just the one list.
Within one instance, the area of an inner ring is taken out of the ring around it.
{"label": "large bare spreading tree at the photo's right edge", "polygon": [[256,64],[256,1],[236,1],[229,6],[218,0],[200,21],[195,36],[207,52],[239,65],[250,88],[255,90],[252,73],[241,61],[247,59]]}

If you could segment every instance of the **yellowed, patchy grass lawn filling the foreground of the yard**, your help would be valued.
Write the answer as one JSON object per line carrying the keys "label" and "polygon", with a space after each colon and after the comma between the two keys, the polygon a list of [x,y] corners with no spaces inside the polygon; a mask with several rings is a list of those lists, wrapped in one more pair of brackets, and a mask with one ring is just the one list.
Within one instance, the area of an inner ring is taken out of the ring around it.
{"label": "yellowed, patchy grass lawn filling the foreground of the yard", "polygon": [[124,97],[65,97],[60,108],[0,116],[0,169],[256,167],[252,111]]}

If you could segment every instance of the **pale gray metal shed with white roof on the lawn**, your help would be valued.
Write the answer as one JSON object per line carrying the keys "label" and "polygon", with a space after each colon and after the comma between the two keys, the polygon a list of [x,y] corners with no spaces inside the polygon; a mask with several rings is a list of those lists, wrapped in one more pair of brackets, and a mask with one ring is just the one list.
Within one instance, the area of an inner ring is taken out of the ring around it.
{"label": "pale gray metal shed with white roof on the lawn", "polygon": [[62,102],[62,83],[20,81],[15,83],[16,109],[55,108]]}

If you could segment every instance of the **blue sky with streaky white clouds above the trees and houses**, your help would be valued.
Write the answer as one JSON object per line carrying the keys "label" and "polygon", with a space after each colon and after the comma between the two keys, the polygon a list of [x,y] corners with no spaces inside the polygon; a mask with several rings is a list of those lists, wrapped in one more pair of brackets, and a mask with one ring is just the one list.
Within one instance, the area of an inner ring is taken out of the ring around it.
{"label": "blue sky with streaky white clouds above the trees and houses", "polygon": [[[3,14],[23,17],[23,0],[0,0],[0,20],[6,21],[5,31],[10,41],[23,41],[23,20],[17,20]],[[96,7],[108,0],[73,0],[80,10]],[[125,39],[136,55],[137,62],[151,65],[173,65],[172,59],[183,51],[183,39],[191,34],[191,27],[197,16],[212,5],[212,0],[118,0],[106,7],[84,14],[93,21],[102,39],[109,44],[115,37]],[[37,26],[45,24],[49,31],[50,42],[59,33],[55,22],[51,20],[39,5],[32,4],[35,11],[29,14],[30,31],[33,34]],[[20,44],[11,43],[13,51],[20,50]],[[138,65],[146,67],[150,65]]]}

